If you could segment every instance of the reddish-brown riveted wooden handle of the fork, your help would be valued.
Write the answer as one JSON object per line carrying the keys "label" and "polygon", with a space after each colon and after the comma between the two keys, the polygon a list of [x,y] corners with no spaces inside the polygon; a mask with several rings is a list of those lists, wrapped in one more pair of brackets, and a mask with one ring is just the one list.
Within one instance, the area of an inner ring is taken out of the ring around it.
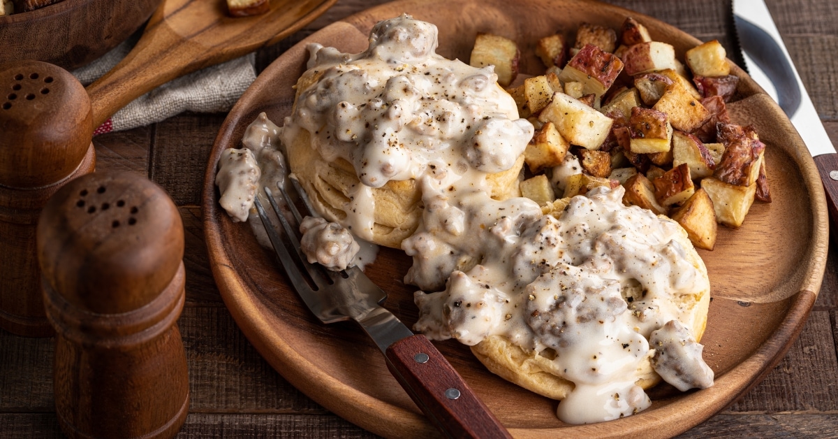
{"label": "reddish-brown riveted wooden handle of the fork", "polygon": [[446,436],[512,437],[427,337],[402,338],[385,356],[407,395]]}

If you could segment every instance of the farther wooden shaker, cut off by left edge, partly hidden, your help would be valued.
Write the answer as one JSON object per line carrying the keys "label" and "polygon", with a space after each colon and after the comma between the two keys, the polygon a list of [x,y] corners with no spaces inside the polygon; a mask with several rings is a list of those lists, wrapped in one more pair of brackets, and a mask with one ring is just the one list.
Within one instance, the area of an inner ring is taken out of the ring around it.
{"label": "farther wooden shaker, cut off by left edge, partly hidden", "polygon": [[41,209],[67,181],[96,165],[91,101],[56,65],[0,65],[0,327],[48,337],[35,230]]}

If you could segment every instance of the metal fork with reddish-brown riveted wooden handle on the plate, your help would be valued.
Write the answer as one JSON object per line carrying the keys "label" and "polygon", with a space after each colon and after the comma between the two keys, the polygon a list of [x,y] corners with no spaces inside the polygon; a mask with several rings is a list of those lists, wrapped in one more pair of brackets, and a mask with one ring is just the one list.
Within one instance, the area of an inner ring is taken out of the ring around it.
{"label": "metal fork with reddish-brown riveted wooden handle on the plate", "polygon": [[[290,186],[297,191],[308,212],[314,212],[297,180],[293,177],[287,180],[290,180]],[[303,217],[292,197],[282,186],[277,189],[282,193],[284,206],[298,225]],[[283,215],[273,191],[269,187],[265,187],[264,191],[290,249],[262,207],[259,196],[256,196],[256,211],[294,290],[314,316],[323,323],[358,322],[384,353],[387,368],[393,377],[445,436],[511,437],[427,337],[414,334],[381,306],[387,294],[363,271],[351,267],[334,272],[319,264],[309,264],[300,250],[298,232]]]}

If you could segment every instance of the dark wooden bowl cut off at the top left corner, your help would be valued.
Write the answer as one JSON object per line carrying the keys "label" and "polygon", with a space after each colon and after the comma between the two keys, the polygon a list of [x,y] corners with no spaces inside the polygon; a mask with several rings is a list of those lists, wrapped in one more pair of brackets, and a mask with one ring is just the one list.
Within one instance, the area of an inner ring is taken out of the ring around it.
{"label": "dark wooden bowl cut off at the top left corner", "polygon": [[0,17],[0,63],[39,60],[75,69],[127,39],[160,1],[64,0]]}

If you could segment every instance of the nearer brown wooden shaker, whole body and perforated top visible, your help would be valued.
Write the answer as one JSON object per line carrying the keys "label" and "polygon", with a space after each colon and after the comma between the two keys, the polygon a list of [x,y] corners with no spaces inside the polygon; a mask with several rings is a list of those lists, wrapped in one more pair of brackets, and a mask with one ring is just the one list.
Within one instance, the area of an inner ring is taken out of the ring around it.
{"label": "nearer brown wooden shaker, whole body and perforated top visible", "polygon": [[129,171],[70,181],[44,207],[38,256],[65,434],[177,434],[189,412],[184,226],[166,192]]}

